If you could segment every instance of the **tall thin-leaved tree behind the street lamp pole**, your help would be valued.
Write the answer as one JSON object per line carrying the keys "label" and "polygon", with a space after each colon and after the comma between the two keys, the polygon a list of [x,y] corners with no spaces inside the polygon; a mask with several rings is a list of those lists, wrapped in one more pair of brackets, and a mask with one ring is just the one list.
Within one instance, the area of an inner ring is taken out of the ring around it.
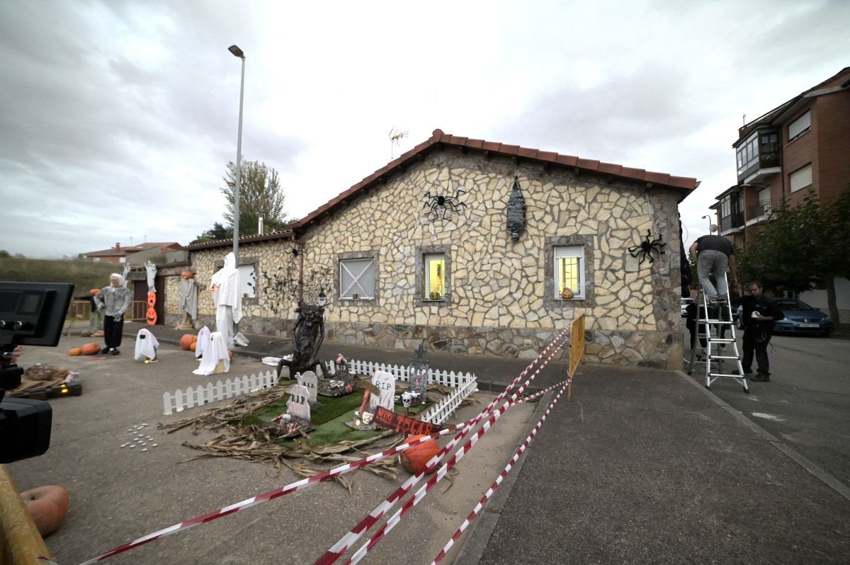
{"label": "tall thin-leaved tree behind the street lamp pole", "polygon": [[[224,184],[221,189],[227,199],[224,220],[232,228],[236,192],[236,165],[233,161],[227,164]],[[258,233],[259,218],[263,218],[264,229],[267,231],[285,228],[285,200],[275,169],[260,161],[242,161],[239,190],[240,235]]]}

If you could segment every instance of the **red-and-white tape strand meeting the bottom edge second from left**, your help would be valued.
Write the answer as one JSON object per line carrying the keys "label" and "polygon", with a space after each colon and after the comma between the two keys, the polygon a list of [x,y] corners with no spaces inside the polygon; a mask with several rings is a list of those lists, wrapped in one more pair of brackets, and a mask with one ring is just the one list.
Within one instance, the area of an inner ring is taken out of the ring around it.
{"label": "red-and-white tape strand meeting the bottom edge second from left", "polygon": [[[560,339],[561,336],[563,336],[564,333],[568,330],[569,327],[564,329],[564,331],[561,331],[561,333],[558,334],[555,340],[557,341],[558,339]],[[428,463],[425,464],[425,469],[433,468],[433,466],[438,464],[439,460],[442,460],[442,458],[446,454],[448,454],[452,449],[454,449],[455,446],[459,444],[469,432],[472,431],[472,427],[476,425],[479,421],[481,421],[485,415],[490,414],[490,412],[493,410],[493,407],[498,404],[503,398],[505,398],[507,392],[511,390],[511,388],[513,388],[522,379],[523,376],[528,374],[528,371],[531,369],[531,367],[533,367],[537,363],[537,361],[547,353],[549,348],[553,347],[554,344],[555,341],[551,342],[545,349],[543,349],[540,355],[538,355],[536,359],[534,359],[529,364],[529,366],[526,367],[526,369],[519,374],[517,378],[515,378],[509,385],[507,385],[507,387],[505,387],[505,390],[503,390],[496,398],[494,398],[493,401],[488,404],[487,407],[484,408],[484,410],[482,410],[479,415],[473,418],[473,423],[470,425],[470,427],[464,428],[462,432],[459,433],[454,439],[452,439],[448,445],[446,445],[443,449],[440,449],[437,455],[434,455],[431,460],[428,460]],[[563,344],[559,344],[557,347],[555,347],[553,352],[550,353],[544,363],[532,374],[528,381],[524,382],[522,387],[519,387],[516,393],[513,393],[513,396],[507,401],[507,403],[505,403],[502,409],[507,410],[510,405],[513,405],[513,401],[515,401],[519,397],[519,394],[523,393],[523,391],[526,387],[529,386],[531,381],[534,381],[536,376],[540,374],[540,371],[543,370],[544,367],[546,367],[549,362],[549,359],[552,359],[553,355],[558,352],[562,345]],[[501,410],[501,412],[499,412],[499,415],[501,415],[501,413],[504,413],[504,410]],[[498,418],[498,415],[496,415],[496,418]],[[329,563],[337,561],[339,557],[342,557],[343,554],[348,551],[348,549],[350,549],[351,546],[354,545],[354,543],[356,543],[356,541],[359,540],[363,534],[365,534],[366,530],[375,525],[375,523],[377,523],[378,520],[380,520],[381,517],[387,511],[389,511],[389,509],[392,508],[398,500],[400,500],[403,496],[405,496],[405,494],[410,492],[410,490],[415,487],[416,484],[419,483],[419,481],[422,480],[422,477],[424,476],[425,472],[420,472],[416,475],[413,475],[412,477],[409,477],[405,481],[405,483],[403,483],[398,489],[395,489],[392,494],[390,494],[378,506],[372,509],[371,512],[369,512],[365,517],[363,517],[363,519],[360,520],[360,522],[357,523],[354,528],[351,528],[347,534],[343,535],[343,537],[340,538],[337,543],[331,547],[331,549],[326,551],[318,560],[316,560],[314,562],[314,565],[328,565]]]}

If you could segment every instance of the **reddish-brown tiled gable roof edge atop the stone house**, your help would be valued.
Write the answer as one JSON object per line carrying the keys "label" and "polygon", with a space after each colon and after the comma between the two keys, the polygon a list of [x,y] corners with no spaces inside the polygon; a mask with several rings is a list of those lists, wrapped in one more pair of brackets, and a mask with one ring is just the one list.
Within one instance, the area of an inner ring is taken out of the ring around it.
{"label": "reddish-brown tiled gable roof edge atop the stone house", "polygon": [[614,163],[604,163],[593,159],[582,159],[573,155],[560,155],[554,151],[542,151],[519,145],[501,144],[484,139],[462,138],[450,133],[443,133],[440,129],[433,130],[433,134],[426,141],[416,145],[413,149],[399,155],[394,161],[389,161],[384,167],[371,173],[368,177],[354,184],[350,189],[338,195],[326,204],[319,206],[313,212],[301,219],[298,228],[303,228],[310,223],[318,221],[322,216],[330,214],[331,210],[340,203],[350,201],[361,190],[368,190],[375,184],[380,184],[399,168],[403,169],[411,161],[419,160],[429,150],[438,148],[440,145],[461,147],[463,150],[479,150],[489,155],[506,155],[517,161],[531,161],[553,165],[557,167],[569,167],[575,170],[596,172],[598,174],[611,175],[625,180],[638,181],[652,185],[682,190],[686,195],[700,185],[695,178],[674,177],[666,172],[651,172],[643,169],[623,167]]}

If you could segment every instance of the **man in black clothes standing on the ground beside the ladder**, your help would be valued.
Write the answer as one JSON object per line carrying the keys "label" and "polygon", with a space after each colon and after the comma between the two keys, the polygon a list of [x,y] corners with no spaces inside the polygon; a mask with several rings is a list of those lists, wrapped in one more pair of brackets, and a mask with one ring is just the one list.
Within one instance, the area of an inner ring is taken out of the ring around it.
{"label": "man in black clothes standing on the ground beside the ladder", "polygon": [[741,321],[744,324],[744,357],[741,365],[744,374],[752,373],[753,352],[756,353],[758,371],[751,381],[770,382],[770,364],[768,363],[768,343],[773,335],[774,322],[785,318],[776,302],[762,294],[762,283],[754,280],[750,283],[749,296],[734,300],[742,308]]}

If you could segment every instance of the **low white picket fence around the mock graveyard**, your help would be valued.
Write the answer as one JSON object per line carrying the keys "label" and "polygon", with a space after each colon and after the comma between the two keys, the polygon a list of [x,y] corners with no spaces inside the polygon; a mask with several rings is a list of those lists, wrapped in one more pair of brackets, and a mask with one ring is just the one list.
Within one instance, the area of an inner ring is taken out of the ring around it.
{"label": "low white picket fence around the mock graveyard", "polygon": [[[337,370],[337,364],[331,361],[331,370]],[[348,370],[357,375],[374,375],[375,371],[383,370],[395,376],[398,381],[408,381],[407,366],[393,364],[378,364],[367,361],[348,361]],[[296,375],[297,376],[297,375]],[[428,370],[428,383],[439,382],[444,387],[454,388],[455,391],[444,398],[439,404],[431,407],[423,421],[435,424],[443,423],[450,415],[454,414],[463,398],[478,390],[478,381],[472,373],[455,371]],[[206,386],[189,387],[184,391],[162,394],[163,414],[172,415],[174,412],[182,412],[195,406],[203,406],[211,402],[218,402],[226,398],[233,398],[241,394],[255,393],[263,388],[274,387],[277,384],[277,374],[274,370],[268,370],[259,375],[241,376],[233,380],[209,382]]]}

